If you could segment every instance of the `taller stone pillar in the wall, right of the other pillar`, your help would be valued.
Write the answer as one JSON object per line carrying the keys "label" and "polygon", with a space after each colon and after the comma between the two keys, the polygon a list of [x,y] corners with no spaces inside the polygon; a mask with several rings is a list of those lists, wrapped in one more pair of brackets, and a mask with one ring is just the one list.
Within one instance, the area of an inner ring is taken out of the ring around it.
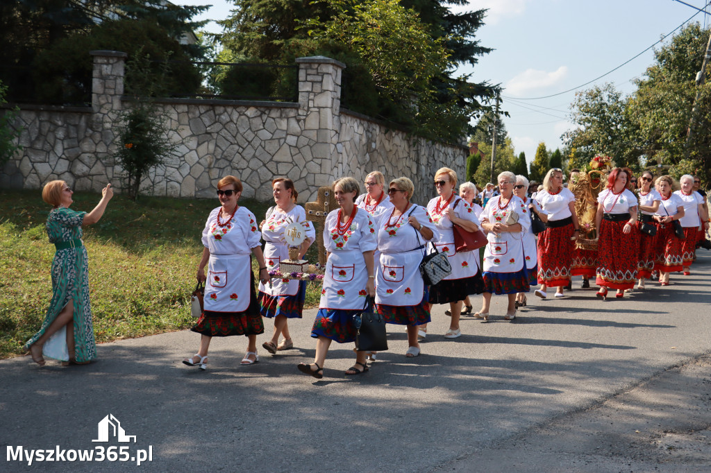
{"label": "taller stone pillar in the wall, right of the other pillar", "polygon": [[299,64],[299,121],[319,165],[310,186],[330,185],[345,170],[336,147],[341,129],[341,72],[343,62],[324,56],[297,58]]}

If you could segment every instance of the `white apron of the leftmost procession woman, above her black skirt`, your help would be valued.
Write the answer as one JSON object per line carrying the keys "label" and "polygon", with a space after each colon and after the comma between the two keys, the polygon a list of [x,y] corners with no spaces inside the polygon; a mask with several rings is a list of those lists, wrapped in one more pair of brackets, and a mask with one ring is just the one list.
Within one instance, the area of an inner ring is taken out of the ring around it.
{"label": "white apron of the leftmost procession woman, above her black skirt", "polygon": [[250,306],[250,255],[210,254],[204,309],[244,312]]}

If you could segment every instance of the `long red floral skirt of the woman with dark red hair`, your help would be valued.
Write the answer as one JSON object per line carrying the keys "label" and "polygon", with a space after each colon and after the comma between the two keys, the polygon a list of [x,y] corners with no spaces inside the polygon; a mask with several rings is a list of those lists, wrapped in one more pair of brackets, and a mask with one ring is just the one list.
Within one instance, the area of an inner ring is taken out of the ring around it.
{"label": "long red floral skirt of the woman with dark red hair", "polygon": [[611,289],[631,289],[637,281],[639,231],[633,226],[629,234],[622,233],[627,220],[610,222],[602,219],[597,240],[598,286]]}

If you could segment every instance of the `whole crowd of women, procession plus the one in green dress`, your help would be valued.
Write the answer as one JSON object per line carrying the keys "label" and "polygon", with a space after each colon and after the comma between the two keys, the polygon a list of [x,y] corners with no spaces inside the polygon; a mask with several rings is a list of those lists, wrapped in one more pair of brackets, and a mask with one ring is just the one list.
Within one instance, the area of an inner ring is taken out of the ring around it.
{"label": "whole crowd of women, procession plus the one in green dress", "polygon": [[[579,171],[573,170],[572,175]],[[572,276],[583,276],[583,287],[595,278],[597,296],[609,289],[616,297],[645,290],[650,278],[668,286],[670,274],[690,274],[697,241],[705,239],[708,210],[705,197],[695,192],[698,180],[680,178],[680,189],[668,175],[644,171],[632,175],[614,168],[594,204],[597,249],[576,245],[581,227],[576,198],[564,183],[561,169],[550,169],[542,185],[523,175],[503,172],[497,186],[481,191],[461,183],[454,170],[434,173],[434,197],[426,206],[412,202],[415,186],[406,177],[387,182],[375,171],[365,177],[365,192],[354,178],[333,182],[338,209],[328,213],[323,237],[327,254],[319,310],[311,328],[314,361],[297,365],[304,374],[322,378],[333,341],[353,343],[356,315],[368,308],[390,325],[405,325],[405,357],[418,357],[434,304],[447,305],[449,329],[444,339],[461,336],[461,317],[489,320],[493,295],[506,295],[504,320],[515,320],[527,305],[531,288],[539,298],[565,297]],[[262,343],[271,354],[294,348],[289,319],[303,316],[306,282],[274,277],[281,261],[289,259],[284,229],[300,224],[306,239],[298,247],[303,258],[316,240],[314,224],[298,205],[292,180],[272,181],[274,206],[264,218],[239,204],[242,183],[228,175],[217,183],[220,206],[208,215],[202,232],[203,253],[196,278],[205,283],[204,310],[191,329],[201,334],[198,351],[183,364],[206,369],[212,337],[247,337],[242,365],[260,361],[257,336],[264,319],[274,320],[272,337]],[[87,254],[82,225],[97,222],[112,197],[110,185],[90,213],[70,210],[72,191],[55,180],[43,189],[53,207],[47,230],[56,246],[52,265],[53,297],[41,330],[27,343],[33,361],[43,357],[66,363],[87,363],[96,348],[88,297]],[[482,205],[479,205],[481,203]],[[454,230],[486,233],[483,257],[479,250],[457,251]],[[262,251],[262,240],[264,249]],[[451,273],[427,286],[419,265],[432,252],[447,256]],[[251,261],[258,264],[259,285]],[[474,312],[472,298],[481,295]],[[355,351],[345,374],[368,371],[375,352]]]}

